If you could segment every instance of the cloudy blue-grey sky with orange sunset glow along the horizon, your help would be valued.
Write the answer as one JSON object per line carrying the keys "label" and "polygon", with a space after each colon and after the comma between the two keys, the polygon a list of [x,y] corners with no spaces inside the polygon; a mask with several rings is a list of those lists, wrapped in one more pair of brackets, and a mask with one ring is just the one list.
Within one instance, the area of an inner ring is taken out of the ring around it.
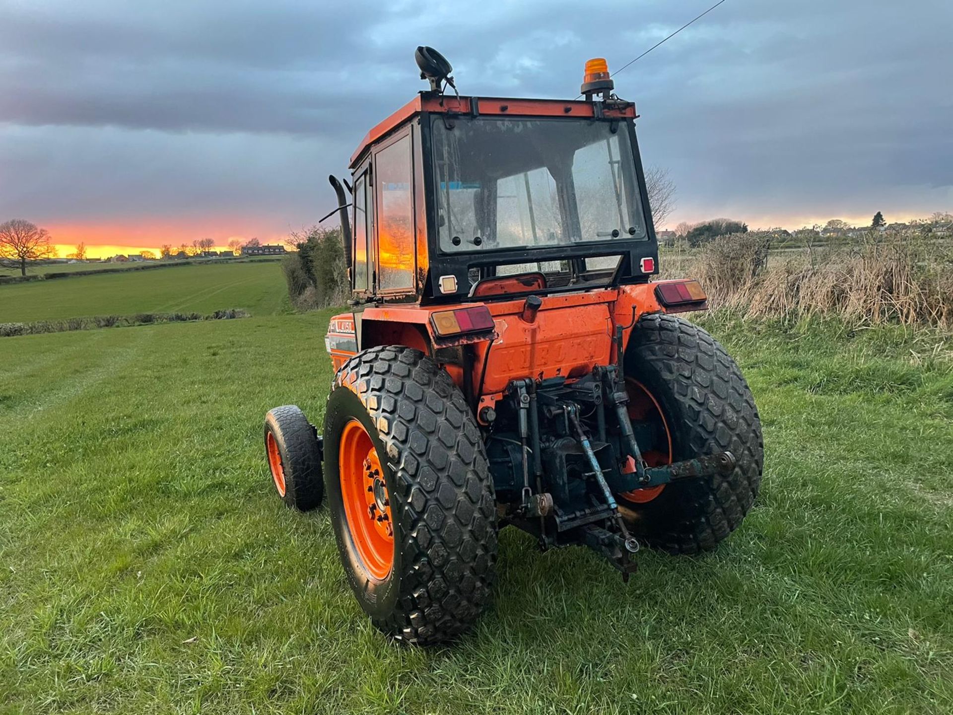
{"label": "cloudy blue-grey sky with orange sunset glow along the horizon", "polygon": [[[416,45],[462,93],[571,98],[714,1],[0,0],[0,221],[91,255],[274,242],[423,89]],[[669,224],[953,210],[951,27],[949,0],[727,0],[620,73]]]}

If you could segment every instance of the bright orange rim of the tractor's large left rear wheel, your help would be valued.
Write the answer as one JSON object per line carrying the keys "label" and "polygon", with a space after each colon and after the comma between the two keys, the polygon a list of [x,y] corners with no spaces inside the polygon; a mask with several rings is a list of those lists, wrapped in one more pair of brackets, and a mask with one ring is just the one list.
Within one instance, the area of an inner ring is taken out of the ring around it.
{"label": "bright orange rim of the tractor's large left rear wheel", "polygon": [[355,551],[367,573],[382,581],[394,567],[394,520],[377,450],[364,425],[344,425],[338,463],[341,497]]}

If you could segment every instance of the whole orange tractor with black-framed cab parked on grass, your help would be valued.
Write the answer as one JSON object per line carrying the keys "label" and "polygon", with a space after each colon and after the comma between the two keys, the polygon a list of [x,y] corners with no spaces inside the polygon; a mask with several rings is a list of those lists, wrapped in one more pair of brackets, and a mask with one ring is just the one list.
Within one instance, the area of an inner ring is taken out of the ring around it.
{"label": "whole orange tractor with black-framed cab parked on grass", "polygon": [[327,500],[373,622],[434,644],[490,600],[502,526],[627,578],[640,543],[735,529],[763,448],[738,365],[674,315],[707,307],[698,282],[651,281],[638,115],[605,61],[564,101],[460,96],[439,53],[416,60],[430,90],[330,177],[353,299],[323,429],[278,407],[265,443],[287,504]]}

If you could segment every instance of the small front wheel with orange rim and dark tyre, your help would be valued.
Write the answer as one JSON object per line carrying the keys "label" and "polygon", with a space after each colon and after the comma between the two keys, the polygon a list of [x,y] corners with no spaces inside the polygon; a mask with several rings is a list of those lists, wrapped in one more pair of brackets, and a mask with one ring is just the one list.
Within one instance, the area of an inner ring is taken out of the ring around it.
{"label": "small front wheel with orange rim and dark tyre", "polygon": [[265,456],[281,501],[299,511],[321,503],[320,439],[296,405],[275,407],[265,415]]}

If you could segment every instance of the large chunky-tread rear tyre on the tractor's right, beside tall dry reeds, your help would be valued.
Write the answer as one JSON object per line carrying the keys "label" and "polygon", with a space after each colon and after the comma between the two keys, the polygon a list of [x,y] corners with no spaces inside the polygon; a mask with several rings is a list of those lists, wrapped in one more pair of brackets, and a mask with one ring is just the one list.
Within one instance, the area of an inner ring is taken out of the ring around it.
{"label": "large chunky-tread rear tyre on the tractor's right, beside tall dry reeds", "polygon": [[740,525],[760,487],[764,447],[748,383],[717,340],[663,315],[639,320],[625,376],[632,404],[641,403],[639,417],[659,420],[659,444],[650,453],[657,463],[728,450],[738,465],[726,477],[618,495],[620,511],[637,536],[670,553],[714,548]]}

